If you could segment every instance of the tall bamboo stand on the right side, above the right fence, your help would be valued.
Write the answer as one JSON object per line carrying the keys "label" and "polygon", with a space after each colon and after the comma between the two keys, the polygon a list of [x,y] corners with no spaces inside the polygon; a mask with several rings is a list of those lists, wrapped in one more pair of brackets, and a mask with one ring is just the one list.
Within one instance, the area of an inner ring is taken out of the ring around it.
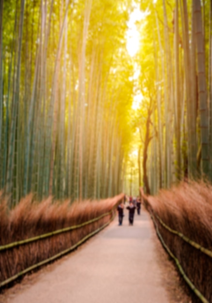
{"label": "tall bamboo stand on the right side, above the right fence", "polygon": [[137,125],[144,132],[144,185],[151,194],[188,178],[212,178],[210,5],[141,3],[146,18],[137,56],[143,95]]}

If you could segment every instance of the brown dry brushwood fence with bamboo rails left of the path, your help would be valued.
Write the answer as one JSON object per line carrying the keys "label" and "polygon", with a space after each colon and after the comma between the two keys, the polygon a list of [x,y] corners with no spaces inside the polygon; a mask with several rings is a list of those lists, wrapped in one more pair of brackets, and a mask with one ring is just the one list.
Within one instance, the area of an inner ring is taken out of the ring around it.
{"label": "brown dry brushwood fence with bamboo rails left of the path", "polygon": [[[36,203],[29,195],[11,211],[7,208],[6,200],[1,199],[0,287],[37,267],[36,264],[43,265],[45,260],[51,261],[73,250],[77,243],[105,227],[122,198],[121,194],[101,201],[70,205],[69,200],[52,203],[52,197]],[[86,224],[88,221],[91,222]],[[56,234],[52,234],[55,231]],[[41,235],[44,237],[37,237]],[[21,243],[35,237],[36,240],[32,242]]]}

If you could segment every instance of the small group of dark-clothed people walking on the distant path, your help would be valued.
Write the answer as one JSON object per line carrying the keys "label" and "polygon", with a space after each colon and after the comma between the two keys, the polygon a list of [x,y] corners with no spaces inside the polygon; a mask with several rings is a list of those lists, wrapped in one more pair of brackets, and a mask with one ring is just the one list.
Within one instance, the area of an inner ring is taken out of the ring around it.
{"label": "small group of dark-clothed people walking on the distant path", "polygon": [[[141,199],[140,197],[129,197],[129,205],[126,207],[126,209],[129,211],[129,225],[133,225],[134,220],[134,214],[137,210],[137,214],[140,214],[141,210]],[[119,225],[122,225],[122,220],[124,216],[124,203],[121,202],[119,206],[117,207],[117,211],[119,214]]]}

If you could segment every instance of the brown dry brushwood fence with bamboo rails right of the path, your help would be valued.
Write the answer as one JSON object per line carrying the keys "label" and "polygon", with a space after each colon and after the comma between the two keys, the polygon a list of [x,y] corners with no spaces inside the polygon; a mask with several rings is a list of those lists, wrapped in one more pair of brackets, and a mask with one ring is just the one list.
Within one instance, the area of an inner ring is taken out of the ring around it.
{"label": "brown dry brushwood fence with bamboo rails right of the path", "polygon": [[194,291],[193,302],[212,302],[212,186],[182,183],[145,196],[157,235]]}

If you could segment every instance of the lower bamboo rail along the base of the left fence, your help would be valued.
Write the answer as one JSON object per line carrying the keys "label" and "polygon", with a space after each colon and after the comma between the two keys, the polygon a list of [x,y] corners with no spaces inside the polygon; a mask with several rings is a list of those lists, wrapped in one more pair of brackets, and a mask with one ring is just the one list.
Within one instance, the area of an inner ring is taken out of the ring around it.
{"label": "lower bamboo rail along the base of the left fence", "polygon": [[[116,206],[115,206],[115,207],[116,207]],[[105,215],[110,214],[110,213],[112,214],[115,207],[113,207],[112,210],[111,210],[110,212],[107,212]],[[41,262],[39,262],[39,263],[37,263],[37,264],[34,264],[34,265],[32,265],[32,266],[26,268],[25,270],[23,270],[23,271],[21,271],[21,272],[19,272],[19,273],[16,273],[14,276],[12,276],[12,277],[10,277],[10,278],[8,278],[8,279],[2,281],[2,282],[0,283],[0,288],[3,287],[3,286],[5,286],[5,285],[7,285],[8,283],[11,283],[11,282],[15,281],[15,280],[16,280],[17,278],[19,278],[20,276],[22,276],[22,275],[24,275],[24,274],[26,274],[26,273],[29,273],[30,271],[32,271],[32,270],[34,270],[34,269],[36,269],[36,268],[38,268],[38,267],[40,267],[40,266],[42,266],[42,265],[45,265],[45,264],[47,264],[47,263],[49,263],[49,262],[51,262],[51,261],[53,261],[53,260],[55,260],[55,259],[57,259],[57,258],[60,258],[61,256],[65,255],[65,254],[67,254],[67,253],[69,253],[69,252],[75,250],[80,244],[82,244],[83,242],[85,242],[86,240],[88,240],[89,238],[91,238],[92,236],[94,236],[96,233],[98,233],[99,231],[101,231],[103,228],[105,228],[105,227],[114,219],[115,214],[116,214],[116,213],[113,214],[113,216],[110,218],[110,220],[109,220],[106,224],[104,224],[102,227],[99,227],[99,228],[97,228],[96,230],[92,231],[90,234],[88,234],[87,236],[85,236],[83,239],[81,239],[79,242],[77,242],[76,244],[74,244],[74,245],[71,246],[70,248],[67,248],[67,249],[63,250],[61,253],[59,253],[59,254],[57,254],[57,255],[51,257],[51,258],[45,259],[45,260],[43,260],[43,261],[41,261]],[[99,220],[99,218],[102,218],[102,217],[103,217],[103,215],[99,216],[99,217],[96,218],[96,219]],[[94,220],[94,219],[92,219],[92,220]],[[91,220],[90,220],[90,221],[91,221]],[[88,221],[88,222],[90,222],[90,221]],[[88,222],[87,222],[87,223],[88,223]],[[94,222],[94,221],[92,221],[92,222]],[[90,223],[91,223],[91,222],[90,222]],[[84,224],[84,223],[83,223],[83,224]],[[88,224],[89,224],[89,223],[88,223]],[[85,225],[85,224],[84,224],[84,225]],[[83,225],[83,226],[84,226],[84,225]],[[77,228],[78,228],[78,226],[77,226]],[[36,239],[36,240],[37,240],[37,239]]]}

